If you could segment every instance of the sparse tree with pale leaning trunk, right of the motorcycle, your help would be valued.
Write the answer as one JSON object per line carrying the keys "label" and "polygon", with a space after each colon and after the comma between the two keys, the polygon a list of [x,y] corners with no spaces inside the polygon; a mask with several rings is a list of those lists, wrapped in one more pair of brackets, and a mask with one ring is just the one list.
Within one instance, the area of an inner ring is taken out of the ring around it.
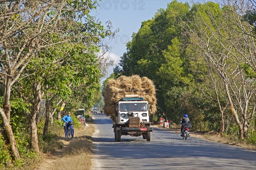
{"label": "sparse tree with pale leaning trunk, right of the motorcycle", "polygon": [[255,94],[255,80],[246,73],[247,69],[251,74],[255,72],[255,40],[250,36],[249,24],[241,22],[243,8],[236,2],[224,1],[227,4],[221,12],[218,12],[219,5],[212,2],[194,5],[188,32],[192,43],[189,48],[192,47],[195,56],[203,57],[209,64],[208,72],[216,71],[222,81],[226,100],[239,127],[239,138],[243,139],[248,127],[248,107]]}

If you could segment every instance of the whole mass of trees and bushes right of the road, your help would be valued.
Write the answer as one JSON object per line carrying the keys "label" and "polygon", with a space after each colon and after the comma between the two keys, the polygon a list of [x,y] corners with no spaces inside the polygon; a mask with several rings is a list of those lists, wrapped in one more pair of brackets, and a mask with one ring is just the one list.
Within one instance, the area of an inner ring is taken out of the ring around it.
{"label": "whole mass of trees and bushes right of the road", "polygon": [[142,22],[109,78],[154,81],[152,122],[179,124],[186,113],[193,130],[256,145],[255,7],[255,0],[174,0]]}

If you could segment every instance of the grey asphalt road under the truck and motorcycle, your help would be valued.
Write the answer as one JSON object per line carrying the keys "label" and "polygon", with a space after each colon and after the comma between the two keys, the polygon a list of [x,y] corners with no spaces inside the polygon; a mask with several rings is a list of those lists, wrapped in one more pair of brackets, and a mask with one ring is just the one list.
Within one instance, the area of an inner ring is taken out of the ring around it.
{"label": "grey asphalt road under the truck and motorcycle", "polygon": [[112,121],[94,114],[93,170],[256,170],[256,152],[154,128],[151,141],[122,136],[115,142]]}

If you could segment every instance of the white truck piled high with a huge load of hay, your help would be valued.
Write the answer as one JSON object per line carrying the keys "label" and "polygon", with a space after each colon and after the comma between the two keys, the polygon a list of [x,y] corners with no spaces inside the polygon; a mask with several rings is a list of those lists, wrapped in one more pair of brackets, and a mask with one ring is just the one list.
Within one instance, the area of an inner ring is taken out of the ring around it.
{"label": "white truck piled high with a huge load of hay", "polygon": [[150,114],[157,111],[154,82],[139,75],[108,79],[104,90],[104,113],[112,119],[117,142],[122,135],[151,141]]}

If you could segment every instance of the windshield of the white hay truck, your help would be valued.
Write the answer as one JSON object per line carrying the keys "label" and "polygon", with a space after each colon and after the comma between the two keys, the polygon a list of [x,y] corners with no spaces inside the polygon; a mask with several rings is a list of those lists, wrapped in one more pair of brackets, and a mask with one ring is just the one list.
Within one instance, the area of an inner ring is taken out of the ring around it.
{"label": "windshield of the white hay truck", "polygon": [[148,105],[145,103],[129,103],[129,104],[120,104],[119,110],[121,112],[136,112],[136,111],[147,111]]}

